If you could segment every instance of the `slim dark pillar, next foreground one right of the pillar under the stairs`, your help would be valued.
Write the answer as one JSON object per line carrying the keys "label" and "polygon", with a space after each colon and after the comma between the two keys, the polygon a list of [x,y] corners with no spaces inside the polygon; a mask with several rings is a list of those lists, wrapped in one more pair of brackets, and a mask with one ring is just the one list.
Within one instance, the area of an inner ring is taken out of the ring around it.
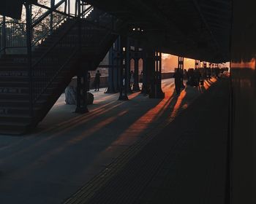
{"label": "slim dark pillar, next foreground one right of the pillar under the stairs", "polygon": [[125,39],[123,36],[121,36],[121,40],[120,40],[120,44],[121,44],[121,50],[123,52],[121,52],[121,68],[120,68],[120,95],[118,100],[119,101],[127,101],[128,96],[127,96],[127,87],[128,87],[128,76],[129,74],[128,72],[128,66],[129,63],[128,61],[129,59],[129,41],[128,39]]}

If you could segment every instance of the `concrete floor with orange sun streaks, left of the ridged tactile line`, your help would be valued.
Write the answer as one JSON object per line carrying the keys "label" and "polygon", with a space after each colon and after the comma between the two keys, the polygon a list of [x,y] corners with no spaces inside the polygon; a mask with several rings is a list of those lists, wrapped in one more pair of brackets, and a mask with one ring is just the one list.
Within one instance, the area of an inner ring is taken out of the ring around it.
{"label": "concrete floor with orange sun streaks, left of the ridged tactile line", "polygon": [[162,100],[133,93],[129,101],[117,101],[118,94],[102,89],[88,114],[73,113],[75,106],[65,105],[61,95],[34,133],[0,136],[0,203],[63,203],[171,123],[214,82],[176,96],[173,79],[165,79]]}

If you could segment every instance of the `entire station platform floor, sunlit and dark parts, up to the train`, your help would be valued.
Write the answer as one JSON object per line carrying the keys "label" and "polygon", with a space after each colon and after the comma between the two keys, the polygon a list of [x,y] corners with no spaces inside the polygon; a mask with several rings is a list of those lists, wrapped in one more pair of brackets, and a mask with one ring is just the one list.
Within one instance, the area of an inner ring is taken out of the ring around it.
{"label": "entire station platform floor, sunlit and dark parts, up to the train", "polygon": [[0,203],[224,203],[228,85],[102,89],[88,114],[62,95],[34,133],[0,136]]}

